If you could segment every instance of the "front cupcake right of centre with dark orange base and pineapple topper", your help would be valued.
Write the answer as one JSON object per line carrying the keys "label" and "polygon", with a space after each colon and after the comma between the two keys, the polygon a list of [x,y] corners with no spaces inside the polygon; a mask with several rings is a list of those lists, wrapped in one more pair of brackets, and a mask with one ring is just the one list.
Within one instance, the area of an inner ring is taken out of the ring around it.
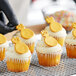
{"label": "front cupcake right of centre with dark orange base and pineapple topper", "polygon": [[46,30],[41,31],[43,40],[38,41],[36,52],[39,64],[42,66],[56,66],[60,63],[61,45],[57,40],[48,35]]}

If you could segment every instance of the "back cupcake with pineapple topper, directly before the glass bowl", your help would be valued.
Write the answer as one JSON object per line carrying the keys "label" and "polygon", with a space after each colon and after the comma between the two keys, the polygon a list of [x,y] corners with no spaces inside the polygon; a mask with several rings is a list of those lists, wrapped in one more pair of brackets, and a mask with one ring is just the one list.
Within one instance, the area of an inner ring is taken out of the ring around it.
{"label": "back cupcake with pineapple topper, directly before the glass bowl", "polygon": [[47,30],[49,35],[54,37],[58,41],[58,43],[63,46],[66,37],[65,29],[61,24],[55,22],[53,17],[47,17],[46,21],[47,23],[49,23],[49,26],[47,26],[45,30]]}

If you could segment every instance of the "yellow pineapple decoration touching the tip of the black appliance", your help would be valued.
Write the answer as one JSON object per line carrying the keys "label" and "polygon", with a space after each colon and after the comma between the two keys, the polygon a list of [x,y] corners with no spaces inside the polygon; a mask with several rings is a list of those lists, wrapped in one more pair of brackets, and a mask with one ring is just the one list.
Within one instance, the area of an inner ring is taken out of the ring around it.
{"label": "yellow pineapple decoration touching the tip of the black appliance", "polygon": [[31,37],[33,37],[34,35],[34,32],[28,28],[25,28],[23,26],[23,24],[20,24],[16,27],[17,30],[21,31],[20,34],[21,34],[21,37],[23,37],[24,39],[29,39]]}

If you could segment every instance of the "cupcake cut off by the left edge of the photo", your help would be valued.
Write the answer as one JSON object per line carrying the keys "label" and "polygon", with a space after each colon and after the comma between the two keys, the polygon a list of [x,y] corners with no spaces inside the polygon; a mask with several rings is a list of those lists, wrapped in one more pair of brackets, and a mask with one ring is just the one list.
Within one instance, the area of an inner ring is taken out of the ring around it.
{"label": "cupcake cut off by the left edge of the photo", "polygon": [[5,58],[5,52],[7,50],[7,40],[6,37],[2,34],[0,34],[0,61],[4,60]]}

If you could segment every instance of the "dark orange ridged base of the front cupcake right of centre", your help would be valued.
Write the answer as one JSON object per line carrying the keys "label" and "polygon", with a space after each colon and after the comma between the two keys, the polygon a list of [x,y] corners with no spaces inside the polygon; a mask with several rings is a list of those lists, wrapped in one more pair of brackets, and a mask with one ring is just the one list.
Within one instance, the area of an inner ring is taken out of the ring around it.
{"label": "dark orange ridged base of the front cupcake right of centre", "polygon": [[42,66],[56,66],[60,62],[61,54],[42,54],[37,52],[39,64]]}

